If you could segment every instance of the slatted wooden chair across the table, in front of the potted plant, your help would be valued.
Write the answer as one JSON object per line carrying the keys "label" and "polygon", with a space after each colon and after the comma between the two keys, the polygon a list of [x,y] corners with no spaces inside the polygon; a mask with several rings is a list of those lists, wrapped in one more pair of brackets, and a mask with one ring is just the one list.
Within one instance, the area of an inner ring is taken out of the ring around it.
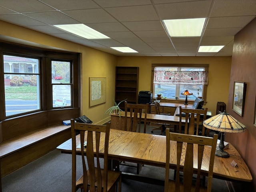
{"label": "slatted wooden chair across the table, in front of the potted plant", "polygon": [[[144,118],[142,118],[142,112],[143,112],[142,110],[144,110],[144,113],[145,113]],[[124,111],[125,111],[124,127],[126,128],[126,131],[140,132],[140,124],[143,121],[144,133],[146,133],[148,104],[128,104],[125,101]],[[128,114],[130,114],[130,117],[132,117],[132,114],[133,114],[133,118],[128,118]],[[137,164],[137,166],[133,166],[127,163],[125,164],[125,162],[120,162],[120,165],[136,167],[137,174],[139,174],[140,168],[143,166],[143,164]]]}

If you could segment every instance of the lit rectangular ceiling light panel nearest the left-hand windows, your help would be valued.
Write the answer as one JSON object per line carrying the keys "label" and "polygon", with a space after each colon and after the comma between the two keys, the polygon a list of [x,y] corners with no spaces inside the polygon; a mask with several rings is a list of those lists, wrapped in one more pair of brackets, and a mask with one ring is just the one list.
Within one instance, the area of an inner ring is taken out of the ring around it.
{"label": "lit rectangular ceiling light panel nearest the left-hand windows", "polygon": [[86,39],[110,39],[110,37],[84,24],[54,25],[54,26]]}

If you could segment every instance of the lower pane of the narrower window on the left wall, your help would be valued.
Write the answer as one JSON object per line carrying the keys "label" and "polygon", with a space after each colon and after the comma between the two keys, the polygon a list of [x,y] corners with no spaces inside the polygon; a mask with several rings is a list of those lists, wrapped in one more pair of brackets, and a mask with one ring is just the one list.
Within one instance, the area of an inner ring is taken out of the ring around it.
{"label": "lower pane of the narrower window on the left wall", "polygon": [[53,107],[71,106],[71,86],[52,85],[52,104]]}

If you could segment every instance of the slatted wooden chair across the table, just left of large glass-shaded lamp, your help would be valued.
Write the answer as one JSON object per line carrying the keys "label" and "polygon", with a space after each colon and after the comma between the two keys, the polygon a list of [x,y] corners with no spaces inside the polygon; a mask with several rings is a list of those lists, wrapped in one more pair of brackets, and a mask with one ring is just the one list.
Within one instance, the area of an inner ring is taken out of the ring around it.
{"label": "slatted wooden chair across the table, just left of large glass-shaded lamp", "polygon": [[[205,135],[205,127],[203,126],[202,122],[206,120],[206,114],[207,114],[208,108],[205,109],[192,109],[192,108],[182,108],[180,106],[180,117],[182,117],[182,113],[185,113],[185,128],[184,133],[190,134],[190,135],[198,135],[199,126],[202,126],[202,136]],[[203,118],[201,118],[201,115],[203,115]],[[179,122],[179,133],[181,133],[182,128],[182,118],[180,118]],[[195,130],[196,126],[196,130]]]}

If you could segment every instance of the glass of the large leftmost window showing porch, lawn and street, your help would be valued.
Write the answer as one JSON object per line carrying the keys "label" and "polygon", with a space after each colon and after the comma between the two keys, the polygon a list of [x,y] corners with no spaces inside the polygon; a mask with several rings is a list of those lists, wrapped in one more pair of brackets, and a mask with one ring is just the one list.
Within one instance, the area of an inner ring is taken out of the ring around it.
{"label": "glass of the large leftmost window showing porch, lawn and street", "polygon": [[4,55],[6,116],[40,109],[38,65],[38,59]]}

